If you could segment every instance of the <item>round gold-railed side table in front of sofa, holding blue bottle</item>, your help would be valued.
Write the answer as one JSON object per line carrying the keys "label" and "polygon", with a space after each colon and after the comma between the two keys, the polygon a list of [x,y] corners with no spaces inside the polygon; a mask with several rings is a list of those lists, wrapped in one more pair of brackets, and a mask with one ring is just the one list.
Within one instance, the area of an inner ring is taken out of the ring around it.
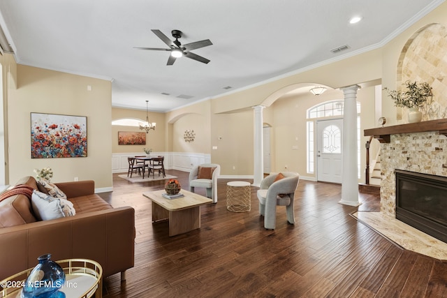
{"label": "round gold-railed side table in front of sofa, holding blue bottle", "polygon": [[[65,283],[59,289],[66,298],[103,297],[103,267],[87,259],[56,261],[65,272]],[[0,297],[20,297],[22,285],[34,268],[24,270],[0,281]]]}

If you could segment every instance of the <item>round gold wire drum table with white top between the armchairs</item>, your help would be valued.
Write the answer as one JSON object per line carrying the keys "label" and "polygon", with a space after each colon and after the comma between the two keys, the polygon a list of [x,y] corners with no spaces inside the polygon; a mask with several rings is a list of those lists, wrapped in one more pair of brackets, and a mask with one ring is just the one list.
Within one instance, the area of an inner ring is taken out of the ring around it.
{"label": "round gold wire drum table with white top between the armchairs", "polygon": [[251,209],[251,186],[246,181],[230,181],[226,184],[226,209],[247,212]]}

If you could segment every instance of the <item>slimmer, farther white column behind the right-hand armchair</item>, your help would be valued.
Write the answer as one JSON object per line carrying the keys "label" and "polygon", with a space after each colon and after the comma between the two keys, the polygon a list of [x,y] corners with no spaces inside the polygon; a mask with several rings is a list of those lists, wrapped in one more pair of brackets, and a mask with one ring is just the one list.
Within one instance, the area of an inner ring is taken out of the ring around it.
{"label": "slimmer, farther white column behind the right-hand armchair", "polygon": [[261,186],[264,178],[264,159],[263,159],[263,105],[256,105],[254,109],[254,170],[253,186]]}

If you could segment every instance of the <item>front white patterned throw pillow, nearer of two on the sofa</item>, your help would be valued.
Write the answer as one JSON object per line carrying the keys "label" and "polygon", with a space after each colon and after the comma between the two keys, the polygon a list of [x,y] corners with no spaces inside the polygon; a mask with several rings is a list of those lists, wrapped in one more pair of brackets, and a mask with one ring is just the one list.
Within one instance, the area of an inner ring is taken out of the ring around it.
{"label": "front white patterned throw pillow, nearer of two on the sofa", "polygon": [[76,214],[72,202],[65,199],[54,198],[51,195],[46,195],[40,191],[33,191],[33,195],[31,195],[31,205],[34,214],[36,214],[36,217],[41,221],[73,216]]}

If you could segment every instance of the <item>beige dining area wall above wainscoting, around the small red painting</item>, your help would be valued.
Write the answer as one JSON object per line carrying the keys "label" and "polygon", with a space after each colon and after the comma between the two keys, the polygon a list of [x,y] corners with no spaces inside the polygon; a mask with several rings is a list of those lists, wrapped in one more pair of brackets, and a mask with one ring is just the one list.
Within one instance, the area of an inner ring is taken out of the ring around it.
{"label": "beige dining area wall above wainscoting, around the small red painting", "polygon": [[[155,131],[149,131],[146,134],[146,144],[145,145],[119,145],[118,144],[118,132],[119,131],[133,131],[141,132],[139,127],[135,126],[112,126],[112,153],[129,153],[129,152],[140,152],[144,154],[143,148],[151,148],[152,151],[166,151],[164,137],[166,134],[166,124],[165,124],[166,114],[149,112],[149,121],[155,122]],[[130,110],[113,107],[112,108],[112,121],[118,119],[141,119],[145,121],[146,111],[142,110]],[[144,132],[144,131],[143,131]]]}

